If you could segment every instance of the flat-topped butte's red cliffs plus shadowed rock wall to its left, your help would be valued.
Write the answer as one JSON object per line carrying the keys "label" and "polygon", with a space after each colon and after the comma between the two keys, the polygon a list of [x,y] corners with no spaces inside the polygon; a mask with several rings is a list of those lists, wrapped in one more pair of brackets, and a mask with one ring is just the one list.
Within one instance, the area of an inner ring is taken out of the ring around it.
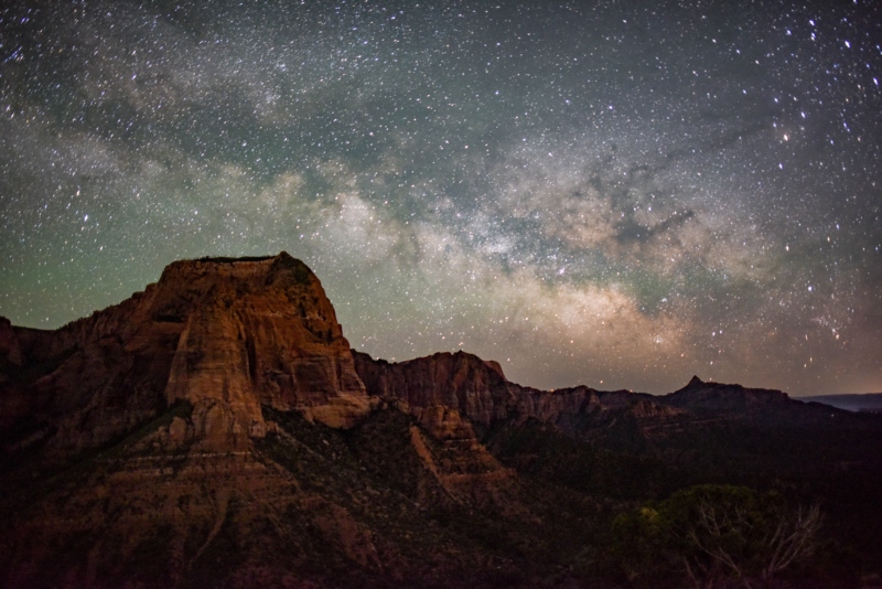
{"label": "flat-topped butte's red cliffs plus shadowed rock wall to its left", "polygon": [[61,454],[182,401],[194,410],[174,435],[216,449],[262,437],[261,405],[344,428],[370,409],[319,279],[286,253],[174,263],[143,292],[56,331],[3,320],[0,368],[2,424],[33,421],[30,442]]}

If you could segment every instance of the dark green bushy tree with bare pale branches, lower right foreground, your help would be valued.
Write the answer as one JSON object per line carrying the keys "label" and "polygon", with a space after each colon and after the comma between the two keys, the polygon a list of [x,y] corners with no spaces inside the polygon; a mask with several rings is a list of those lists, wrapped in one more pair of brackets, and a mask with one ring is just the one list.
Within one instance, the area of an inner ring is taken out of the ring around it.
{"label": "dark green bushy tree with bare pale branches, lower right foreground", "polygon": [[628,545],[631,577],[670,578],[665,568],[679,563],[697,589],[754,589],[815,553],[821,521],[817,504],[790,507],[774,492],[700,485],[621,516],[613,534],[620,549]]}

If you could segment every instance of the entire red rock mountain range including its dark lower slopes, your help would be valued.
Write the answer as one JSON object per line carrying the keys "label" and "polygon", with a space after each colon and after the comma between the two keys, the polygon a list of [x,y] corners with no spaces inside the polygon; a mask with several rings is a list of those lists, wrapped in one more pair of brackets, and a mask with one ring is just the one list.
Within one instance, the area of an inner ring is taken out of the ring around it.
{"label": "entire red rock mountain range including its dark lower slopes", "polygon": [[824,501],[880,570],[880,450],[879,416],[775,390],[375,360],[288,254],[184,260],[58,330],[0,319],[0,585],[630,587],[616,515],[720,482]]}

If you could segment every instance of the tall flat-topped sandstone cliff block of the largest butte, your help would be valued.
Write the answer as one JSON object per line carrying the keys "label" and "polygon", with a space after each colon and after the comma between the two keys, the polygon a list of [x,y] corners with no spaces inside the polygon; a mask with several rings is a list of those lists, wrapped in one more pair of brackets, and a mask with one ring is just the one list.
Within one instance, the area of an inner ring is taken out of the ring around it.
{"label": "tall flat-topped sandstone cliff block of the largest butte", "polygon": [[369,410],[334,308],[303,263],[284,253],[176,263],[160,285],[170,288],[157,297],[154,318],[184,324],[165,397],[196,407],[197,432],[212,436],[217,424],[262,436],[261,404],[332,427],[351,427]]}

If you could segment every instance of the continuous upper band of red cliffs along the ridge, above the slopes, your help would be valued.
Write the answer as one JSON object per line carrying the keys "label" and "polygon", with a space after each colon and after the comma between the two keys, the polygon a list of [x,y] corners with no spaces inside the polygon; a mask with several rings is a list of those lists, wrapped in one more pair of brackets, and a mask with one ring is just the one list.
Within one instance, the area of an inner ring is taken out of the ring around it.
{"label": "continuous upper band of red cliffs along the ridge, above the slopes", "polygon": [[261,406],[347,428],[395,399],[439,440],[475,439],[475,428],[506,419],[579,435],[587,416],[676,410],[628,392],[523,387],[463,352],[398,364],[353,353],[319,279],[284,253],[174,263],[143,292],[55,331],[0,322],[0,422],[26,426],[6,445],[60,454],[179,403],[193,410],[168,426],[168,440],[214,450],[271,429]]}

